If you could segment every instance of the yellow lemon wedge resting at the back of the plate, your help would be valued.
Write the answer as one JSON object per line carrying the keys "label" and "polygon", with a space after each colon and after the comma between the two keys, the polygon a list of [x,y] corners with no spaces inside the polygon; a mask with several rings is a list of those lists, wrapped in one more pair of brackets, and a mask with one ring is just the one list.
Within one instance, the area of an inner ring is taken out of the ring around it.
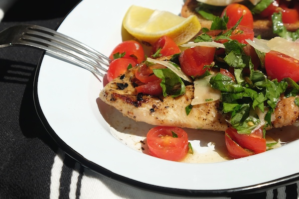
{"label": "yellow lemon wedge resting at the back of the plate", "polygon": [[194,15],[185,18],[168,11],[137,5],[128,9],[123,26],[138,40],[151,45],[163,35],[171,37],[180,45],[192,39],[201,29],[201,24]]}

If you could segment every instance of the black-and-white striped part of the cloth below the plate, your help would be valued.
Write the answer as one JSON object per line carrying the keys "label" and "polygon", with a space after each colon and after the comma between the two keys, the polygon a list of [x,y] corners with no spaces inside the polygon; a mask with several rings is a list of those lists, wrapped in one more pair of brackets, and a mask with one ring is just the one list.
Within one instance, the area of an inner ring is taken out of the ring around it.
{"label": "black-and-white striped part of the cloth below the plate", "polygon": [[[74,161],[59,151],[51,169],[50,199],[190,199],[138,190],[84,169],[78,163],[71,169],[64,162]],[[299,183],[260,194],[217,199],[297,199],[298,186]]]}

